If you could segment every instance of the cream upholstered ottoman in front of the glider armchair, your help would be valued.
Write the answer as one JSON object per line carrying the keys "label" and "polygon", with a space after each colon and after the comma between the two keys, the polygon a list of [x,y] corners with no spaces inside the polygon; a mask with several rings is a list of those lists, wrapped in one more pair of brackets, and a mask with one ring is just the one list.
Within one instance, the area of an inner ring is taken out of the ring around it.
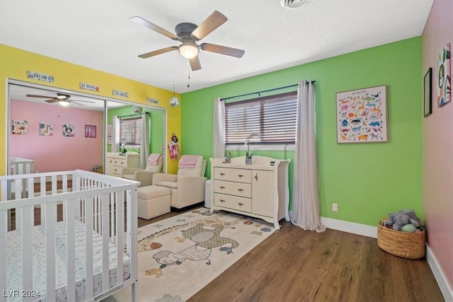
{"label": "cream upholstered ottoman in front of the glider armchair", "polygon": [[156,185],[147,185],[137,188],[138,216],[142,219],[151,219],[170,213],[170,189]]}

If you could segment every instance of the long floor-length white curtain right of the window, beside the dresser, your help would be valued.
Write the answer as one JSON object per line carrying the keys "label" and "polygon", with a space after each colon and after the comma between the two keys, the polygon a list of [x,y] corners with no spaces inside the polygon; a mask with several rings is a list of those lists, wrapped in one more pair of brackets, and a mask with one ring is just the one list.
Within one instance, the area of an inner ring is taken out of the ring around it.
{"label": "long floor-length white curtain right of the window, beside the dresser", "polygon": [[304,230],[323,232],[319,216],[319,178],[316,158],[315,93],[311,81],[297,89],[297,127],[291,222]]}

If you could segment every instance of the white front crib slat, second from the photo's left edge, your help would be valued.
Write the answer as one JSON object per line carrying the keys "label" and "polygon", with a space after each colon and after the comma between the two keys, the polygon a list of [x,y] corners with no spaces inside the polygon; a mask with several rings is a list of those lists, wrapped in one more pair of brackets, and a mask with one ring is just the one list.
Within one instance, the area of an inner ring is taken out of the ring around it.
{"label": "white front crib slat, second from the photo's left edge", "polygon": [[[16,208],[16,211],[22,216],[22,289],[33,290],[33,206]],[[32,297],[23,297],[23,301],[32,301]]]}

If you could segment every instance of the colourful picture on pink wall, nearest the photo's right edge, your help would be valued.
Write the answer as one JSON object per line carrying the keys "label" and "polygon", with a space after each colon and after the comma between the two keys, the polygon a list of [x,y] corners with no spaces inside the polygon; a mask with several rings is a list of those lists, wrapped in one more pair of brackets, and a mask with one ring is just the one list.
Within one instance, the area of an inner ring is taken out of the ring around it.
{"label": "colourful picture on pink wall, nearest the photo's right edge", "polygon": [[445,45],[437,57],[437,107],[451,102],[452,100],[452,78],[450,74],[450,45]]}

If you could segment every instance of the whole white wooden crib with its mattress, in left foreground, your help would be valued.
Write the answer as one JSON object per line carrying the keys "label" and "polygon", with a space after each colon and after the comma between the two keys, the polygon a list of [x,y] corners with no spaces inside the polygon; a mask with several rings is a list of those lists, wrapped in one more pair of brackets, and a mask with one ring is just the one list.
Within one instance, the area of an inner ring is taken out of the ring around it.
{"label": "whole white wooden crib with its mattress, in left foreground", "polygon": [[125,286],[135,301],[139,182],[74,170],[0,185],[1,302],[98,301]]}

